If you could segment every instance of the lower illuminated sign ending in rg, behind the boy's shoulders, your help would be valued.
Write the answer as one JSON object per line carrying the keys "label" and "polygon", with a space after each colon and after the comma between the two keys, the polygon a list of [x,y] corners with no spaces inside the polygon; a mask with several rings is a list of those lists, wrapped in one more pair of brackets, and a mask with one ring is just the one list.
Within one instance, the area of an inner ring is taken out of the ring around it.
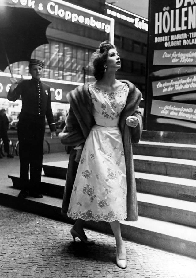
{"label": "lower illuminated sign ending in rg, behind the boy's shoulders", "polygon": [[[10,83],[10,74],[0,72],[0,98],[7,98],[7,93],[9,91],[9,87],[11,86]],[[21,75],[14,74],[16,79],[20,80]],[[24,80],[31,79],[31,76],[23,76]],[[62,102],[68,103],[66,95],[71,90],[74,90],[79,85],[83,83],[79,82],[70,82],[70,81],[59,81],[49,78],[41,78],[41,81],[46,83],[51,88],[51,101],[52,102]]]}

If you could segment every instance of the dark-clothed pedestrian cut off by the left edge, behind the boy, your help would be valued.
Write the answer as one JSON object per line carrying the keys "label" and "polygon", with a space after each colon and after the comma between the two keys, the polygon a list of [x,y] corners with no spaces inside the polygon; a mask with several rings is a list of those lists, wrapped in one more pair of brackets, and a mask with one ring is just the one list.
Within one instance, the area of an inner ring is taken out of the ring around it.
{"label": "dark-clothed pedestrian cut off by the left edge, behind the boy", "polygon": [[[9,120],[6,116],[6,110],[0,110],[0,139],[2,138],[4,151],[7,153],[8,158],[13,158],[14,156],[9,153],[9,139],[8,139],[8,128],[9,128]],[[0,158],[2,155],[0,154]]]}

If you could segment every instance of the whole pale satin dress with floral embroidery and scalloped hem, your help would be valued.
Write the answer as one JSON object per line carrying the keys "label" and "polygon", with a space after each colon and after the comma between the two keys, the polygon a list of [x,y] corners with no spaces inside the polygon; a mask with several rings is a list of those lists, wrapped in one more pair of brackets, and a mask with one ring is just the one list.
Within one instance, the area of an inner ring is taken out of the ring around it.
{"label": "whole pale satin dress with floral embroidery and scalloped hem", "polygon": [[72,219],[112,222],[126,218],[126,168],[118,123],[128,90],[127,84],[112,93],[89,85],[96,125],[78,165],[67,212]]}

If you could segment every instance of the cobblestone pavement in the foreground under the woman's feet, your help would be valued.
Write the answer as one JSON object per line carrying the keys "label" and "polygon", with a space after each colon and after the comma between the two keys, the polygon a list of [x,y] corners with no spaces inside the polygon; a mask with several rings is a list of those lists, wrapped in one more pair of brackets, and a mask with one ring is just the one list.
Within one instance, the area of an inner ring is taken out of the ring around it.
{"label": "cobblestone pavement in the foreground under the woman's feet", "polygon": [[0,205],[0,277],[196,278],[196,260],[126,241],[128,267],[115,264],[115,239],[86,230],[75,244],[70,224]]}

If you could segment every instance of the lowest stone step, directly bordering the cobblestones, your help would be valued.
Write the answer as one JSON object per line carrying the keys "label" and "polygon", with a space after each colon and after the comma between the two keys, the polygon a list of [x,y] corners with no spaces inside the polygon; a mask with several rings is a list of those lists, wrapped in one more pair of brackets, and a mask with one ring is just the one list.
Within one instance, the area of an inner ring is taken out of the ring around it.
{"label": "lowest stone step, directly bordering the cobblestones", "polygon": [[[1,203],[20,207],[23,210],[46,217],[73,223],[69,218],[62,218],[62,199],[43,196],[42,199],[27,197],[24,201],[17,197],[19,189],[4,187],[0,193]],[[171,252],[196,258],[196,229],[193,227],[165,222],[139,216],[138,221],[120,221],[122,236],[130,241],[154,246]],[[111,233],[108,223],[90,221],[86,228]]]}

